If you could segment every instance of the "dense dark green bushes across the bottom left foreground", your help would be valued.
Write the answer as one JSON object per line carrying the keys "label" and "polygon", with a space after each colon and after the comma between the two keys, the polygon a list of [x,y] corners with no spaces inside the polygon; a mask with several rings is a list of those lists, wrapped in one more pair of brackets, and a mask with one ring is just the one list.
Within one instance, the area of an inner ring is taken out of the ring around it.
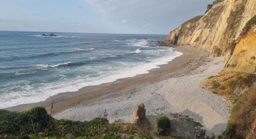
{"label": "dense dark green bushes across the bottom left foreground", "polygon": [[[129,125],[129,126],[128,126]],[[129,127],[129,128],[128,128]],[[0,109],[0,139],[152,139],[129,123],[56,120],[43,107],[25,112]]]}

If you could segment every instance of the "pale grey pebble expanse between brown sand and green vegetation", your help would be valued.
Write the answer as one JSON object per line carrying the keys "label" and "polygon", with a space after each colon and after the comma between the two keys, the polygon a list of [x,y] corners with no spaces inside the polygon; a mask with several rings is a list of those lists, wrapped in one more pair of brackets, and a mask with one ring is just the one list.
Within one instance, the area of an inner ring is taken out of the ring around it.
{"label": "pale grey pebble expanse between brown sand and green vegetation", "polygon": [[69,108],[54,115],[56,119],[93,120],[108,113],[108,120],[133,122],[133,111],[144,103],[147,115],[180,113],[200,122],[207,135],[221,134],[229,119],[230,101],[202,89],[201,82],[216,75],[224,67],[223,57],[192,70],[188,75],[169,78],[149,85],[141,85],[132,92],[87,106]]}

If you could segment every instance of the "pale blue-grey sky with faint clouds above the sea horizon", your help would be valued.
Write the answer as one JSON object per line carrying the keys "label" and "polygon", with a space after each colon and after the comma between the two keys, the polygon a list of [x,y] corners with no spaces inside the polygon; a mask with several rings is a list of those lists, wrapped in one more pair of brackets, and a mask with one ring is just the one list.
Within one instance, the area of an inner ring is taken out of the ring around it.
{"label": "pale blue-grey sky with faint clouds above the sea horizon", "polygon": [[0,31],[168,34],[213,0],[0,0]]}

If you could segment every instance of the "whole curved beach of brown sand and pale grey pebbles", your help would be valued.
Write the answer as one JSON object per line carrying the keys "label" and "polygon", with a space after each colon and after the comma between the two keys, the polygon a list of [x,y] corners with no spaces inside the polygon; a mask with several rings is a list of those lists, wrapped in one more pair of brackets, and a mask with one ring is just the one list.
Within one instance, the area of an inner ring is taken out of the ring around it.
{"label": "whole curved beach of brown sand and pale grey pebbles", "polygon": [[202,123],[207,134],[220,134],[229,119],[231,104],[223,97],[202,89],[201,82],[223,69],[223,57],[209,58],[207,51],[191,46],[178,46],[182,52],[160,69],[148,74],[119,79],[115,82],[81,88],[77,92],[55,95],[47,101],[7,108],[26,110],[33,106],[50,110],[54,100],[54,118],[69,120],[92,120],[108,112],[113,122],[133,122],[132,113],[137,105],[144,103],[147,115],[181,113]]}

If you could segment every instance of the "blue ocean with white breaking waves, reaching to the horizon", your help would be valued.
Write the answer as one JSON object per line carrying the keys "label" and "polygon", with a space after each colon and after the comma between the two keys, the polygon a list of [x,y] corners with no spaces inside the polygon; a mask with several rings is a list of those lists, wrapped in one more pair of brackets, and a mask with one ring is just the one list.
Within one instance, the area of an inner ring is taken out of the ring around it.
{"label": "blue ocean with white breaking waves, reaching to the horizon", "polygon": [[[167,35],[0,31],[0,108],[148,73],[182,53]],[[144,39],[147,38],[147,39]]]}

